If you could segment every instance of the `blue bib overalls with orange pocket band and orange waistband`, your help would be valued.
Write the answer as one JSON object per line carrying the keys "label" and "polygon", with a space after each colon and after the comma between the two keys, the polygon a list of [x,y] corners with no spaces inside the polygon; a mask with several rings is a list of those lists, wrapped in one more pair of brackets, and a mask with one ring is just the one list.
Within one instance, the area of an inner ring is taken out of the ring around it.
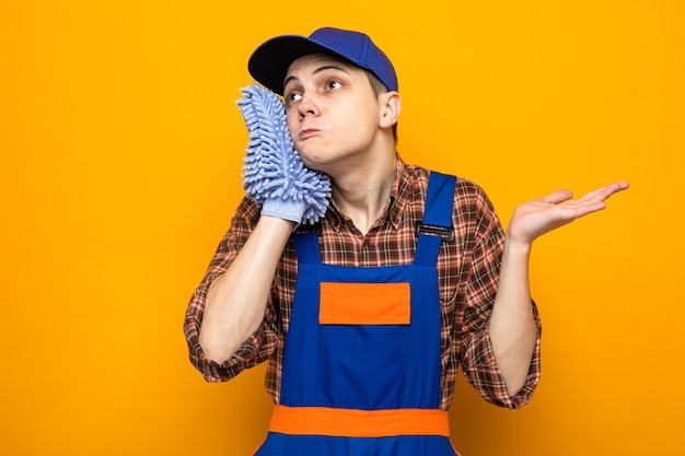
{"label": "blue bib overalls with orange pocket band and orange waistband", "polygon": [[281,400],[257,456],[454,456],[440,410],[438,254],[455,177],[431,173],[413,265],[325,265],[295,234]]}

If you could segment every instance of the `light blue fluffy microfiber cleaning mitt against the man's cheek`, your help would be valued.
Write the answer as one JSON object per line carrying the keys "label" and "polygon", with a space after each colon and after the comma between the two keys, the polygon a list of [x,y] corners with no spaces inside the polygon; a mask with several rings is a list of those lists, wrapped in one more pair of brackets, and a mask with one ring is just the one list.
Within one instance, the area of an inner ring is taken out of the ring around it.
{"label": "light blue fluffy microfiber cleaning mitt against the man's cheek", "polygon": [[309,169],[295,152],[286,106],[268,89],[242,87],[236,103],[249,132],[243,166],[243,188],[262,207],[262,214],[315,223],[324,217],[330,198],[330,178]]}

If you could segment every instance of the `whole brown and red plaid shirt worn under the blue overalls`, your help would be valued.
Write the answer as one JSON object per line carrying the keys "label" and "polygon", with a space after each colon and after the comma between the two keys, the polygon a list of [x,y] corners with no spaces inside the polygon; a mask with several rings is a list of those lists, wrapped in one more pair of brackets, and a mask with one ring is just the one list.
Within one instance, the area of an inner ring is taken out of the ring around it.
{"label": "whole brown and red plaid shirt worn under the blue overalls", "polygon": [[[429,172],[398,160],[391,200],[364,236],[332,202],[321,222],[320,247],[325,264],[355,267],[407,265],[416,249],[415,224],[423,213]],[[271,287],[262,326],[223,363],[205,358],[198,343],[207,290],[235,258],[259,219],[259,208],[244,199],[224,235],[209,269],[193,294],[185,318],[190,361],[208,382],[225,382],[245,369],[269,361],[265,386],[280,400],[285,335],[290,323],[298,264],[292,239],[288,242]],[[485,192],[458,178],[452,215],[455,238],[443,242],[438,259],[441,300],[441,401],[448,410],[461,365],[466,379],[489,402],[510,409],[526,404],[539,381],[539,317],[537,342],[525,386],[510,397],[488,337],[488,321],[497,292],[503,232]],[[306,226],[302,227],[306,230]]]}

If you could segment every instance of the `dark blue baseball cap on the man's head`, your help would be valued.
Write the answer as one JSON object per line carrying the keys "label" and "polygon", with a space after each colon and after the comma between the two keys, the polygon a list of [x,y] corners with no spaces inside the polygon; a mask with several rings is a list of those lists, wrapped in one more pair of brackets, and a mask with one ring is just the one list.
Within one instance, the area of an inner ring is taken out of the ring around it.
{"label": "dark blue baseball cap on the man's head", "polygon": [[247,70],[262,85],[282,95],[290,63],[309,54],[333,54],[371,71],[388,91],[397,91],[397,75],[387,56],[363,33],[324,27],[309,38],[281,35],[263,43],[249,57]]}

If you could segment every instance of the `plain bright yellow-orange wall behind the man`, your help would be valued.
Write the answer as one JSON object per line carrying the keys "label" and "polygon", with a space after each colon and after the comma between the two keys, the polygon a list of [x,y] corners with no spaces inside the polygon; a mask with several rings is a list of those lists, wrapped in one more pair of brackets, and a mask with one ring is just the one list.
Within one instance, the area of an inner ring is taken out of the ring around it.
{"label": "plain bright yellow-orange wall behind the man", "polygon": [[0,453],[260,443],[264,367],[204,383],[183,314],[242,195],[247,57],[334,25],[395,62],[405,160],[476,180],[504,223],[631,184],[535,246],[542,383],[509,412],[461,381],[457,448],[685,454],[684,3],[405,3],[0,0]]}

